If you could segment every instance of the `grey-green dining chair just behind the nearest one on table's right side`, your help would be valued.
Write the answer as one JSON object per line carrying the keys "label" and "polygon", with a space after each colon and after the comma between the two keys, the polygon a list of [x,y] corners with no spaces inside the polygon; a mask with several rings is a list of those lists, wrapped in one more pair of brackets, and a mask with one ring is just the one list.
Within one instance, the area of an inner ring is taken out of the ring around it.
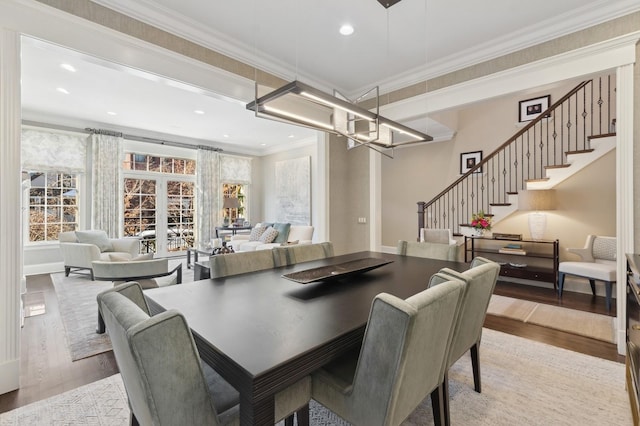
{"label": "grey-green dining chair just behind the nearest one on table's right side", "polygon": [[471,353],[473,368],[473,382],[476,392],[482,390],[480,380],[480,340],[482,339],[482,326],[489,307],[489,301],[496,286],[500,265],[488,259],[478,258],[472,261],[469,270],[462,273],[449,268],[443,268],[434,274],[429,287],[437,288],[439,285],[451,280],[460,280],[464,283],[464,292],[460,304],[460,312],[453,329],[451,350],[448,355],[443,383],[444,407],[446,424],[449,424],[449,384],[447,372],[449,368],[467,351]]}

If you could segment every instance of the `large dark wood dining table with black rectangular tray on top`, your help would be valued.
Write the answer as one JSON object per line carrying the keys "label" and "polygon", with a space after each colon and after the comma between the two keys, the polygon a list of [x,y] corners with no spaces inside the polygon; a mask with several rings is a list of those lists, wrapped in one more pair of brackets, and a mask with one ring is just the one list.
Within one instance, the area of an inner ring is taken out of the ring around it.
{"label": "large dark wood dining table with black rectangular tray on top", "polygon": [[[283,274],[362,258],[393,262],[339,280],[299,284]],[[441,268],[466,263],[359,252],[145,291],[151,312],[185,316],[201,358],[240,393],[242,425],[273,425],[274,395],[362,342],[373,298],[403,299]]]}

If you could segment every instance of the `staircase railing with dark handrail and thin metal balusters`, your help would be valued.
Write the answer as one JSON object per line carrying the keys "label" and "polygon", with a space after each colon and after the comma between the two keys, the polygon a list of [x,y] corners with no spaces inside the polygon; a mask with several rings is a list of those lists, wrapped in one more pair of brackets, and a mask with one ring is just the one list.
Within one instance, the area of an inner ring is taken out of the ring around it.
{"label": "staircase railing with dark handrail and thin metal balusters", "polygon": [[546,179],[546,170],[568,167],[567,154],[591,150],[590,138],[614,133],[615,78],[583,81],[428,202],[418,202],[421,228],[449,228],[471,222],[479,211],[509,205],[509,195],[527,182]]}

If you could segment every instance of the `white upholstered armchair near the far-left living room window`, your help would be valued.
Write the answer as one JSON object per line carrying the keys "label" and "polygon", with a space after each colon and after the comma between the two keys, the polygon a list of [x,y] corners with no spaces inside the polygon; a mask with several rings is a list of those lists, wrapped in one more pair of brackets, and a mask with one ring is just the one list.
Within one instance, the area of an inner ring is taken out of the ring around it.
{"label": "white upholstered armchair near the far-left living room window", "polygon": [[61,232],[58,234],[58,241],[65,276],[88,269],[92,281],[94,277],[91,262],[94,260],[108,261],[110,254],[132,259],[140,252],[137,238],[108,238],[104,231]]}

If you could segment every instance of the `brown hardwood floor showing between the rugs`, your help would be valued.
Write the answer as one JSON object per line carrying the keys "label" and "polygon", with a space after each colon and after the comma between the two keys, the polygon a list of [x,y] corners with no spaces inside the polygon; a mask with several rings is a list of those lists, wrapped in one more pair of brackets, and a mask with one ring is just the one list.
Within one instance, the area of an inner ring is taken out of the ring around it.
{"label": "brown hardwood floor showing between the rugs", "polygon": [[[19,390],[0,395],[0,413],[74,389],[118,372],[113,352],[71,361],[58,300],[49,275],[27,277],[27,291],[43,292],[46,313],[25,319],[22,329]],[[565,292],[562,302],[553,289],[499,282],[495,294],[606,314],[604,298]],[[615,313],[615,303],[612,306]],[[570,333],[488,315],[485,326],[565,349],[624,362],[613,344]]]}

